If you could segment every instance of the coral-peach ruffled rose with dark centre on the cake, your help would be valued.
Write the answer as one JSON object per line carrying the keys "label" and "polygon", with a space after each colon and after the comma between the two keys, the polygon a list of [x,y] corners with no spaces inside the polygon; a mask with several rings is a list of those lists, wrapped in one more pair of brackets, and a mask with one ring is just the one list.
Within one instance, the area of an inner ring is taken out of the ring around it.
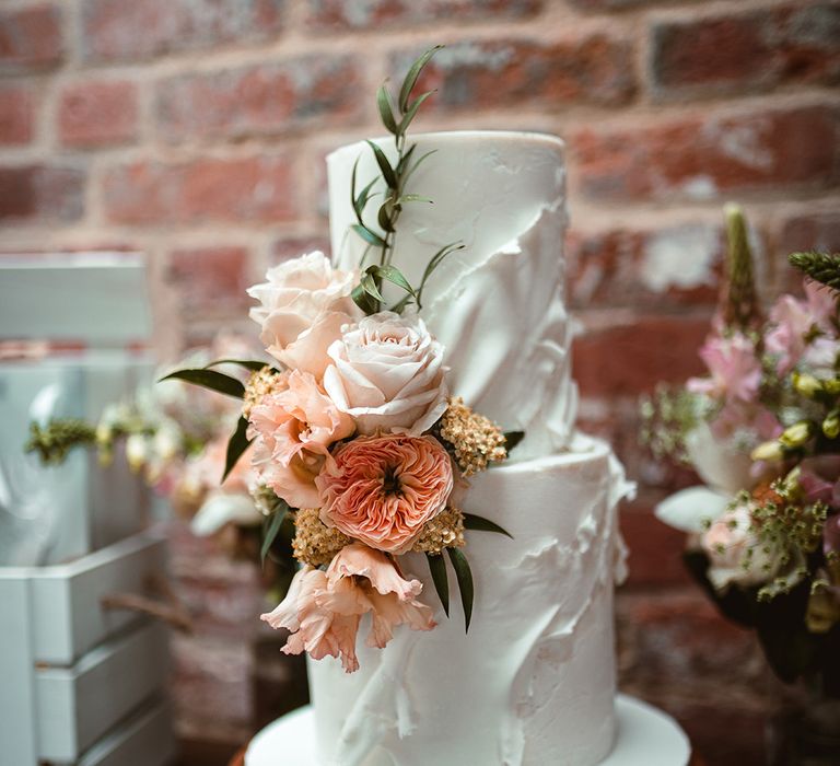
{"label": "coral-peach ruffled rose with dark centre on the cake", "polygon": [[378,550],[402,553],[452,492],[452,463],[434,437],[359,437],[315,479],[320,519]]}

